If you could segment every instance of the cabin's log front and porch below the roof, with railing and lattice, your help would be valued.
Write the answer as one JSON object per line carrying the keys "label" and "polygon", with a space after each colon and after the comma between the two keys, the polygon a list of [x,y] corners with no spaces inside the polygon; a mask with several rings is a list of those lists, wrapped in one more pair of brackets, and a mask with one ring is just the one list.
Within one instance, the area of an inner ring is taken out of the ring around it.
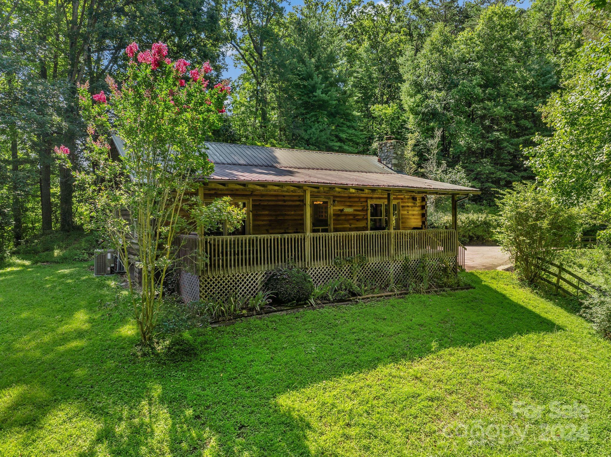
{"label": "cabin's log front and porch below the roof, with railing and lattice", "polygon": [[[203,202],[222,196],[203,187],[199,194]],[[375,287],[458,270],[455,195],[448,229],[426,229],[426,195],[413,191],[245,189],[230,195],[246,209],[240,232],[204,234],[200,228],[178,237],[185,301],[252,296],[278,267],[302,268],[322,285],[354,276],[356,261],[361,280]]]}

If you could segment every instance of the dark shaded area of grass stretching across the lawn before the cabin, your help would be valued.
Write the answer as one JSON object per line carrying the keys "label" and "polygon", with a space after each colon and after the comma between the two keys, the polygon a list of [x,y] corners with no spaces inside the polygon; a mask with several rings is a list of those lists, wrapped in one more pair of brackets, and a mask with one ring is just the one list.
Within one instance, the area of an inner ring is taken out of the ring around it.
{"label": "dark shaded area of grass stretching across the lawn before the cabin", "polygon": [[[38,397],[46,398],[30,403],[20,395],[10,408],[34,409],[36,414],[19,421],[32,430],[43,426],[42,419],[58,405],[78,405],[93,424],[81,455],[97,455],[100,449],[110,455],[199,455],[202,450],[311,455],[308,420],[290,414],[278,401],[290,392],[416,361],[445,348],[561,329],[478,276],[469,275],[469,281],[475,289],[271,315],[194,331],[200,356],[180,364],[130,358],[136,335],[116,336],[125,321],[106,320],[106,313],[92,305],[87,328],[64,326],[62,332],[58,322],[49,328],[56,335],[37,355],[8,354],[7,366],[28,367],[21,370],[21,383],[40,386],[44,392]],[[78,300],[65,303],[64,316],[81,308]],[[68,343],[75,339],[86,340],[86,347],[71,349]],[[16,426],[6,420],[6,411],[0,414],[4,429]]]}

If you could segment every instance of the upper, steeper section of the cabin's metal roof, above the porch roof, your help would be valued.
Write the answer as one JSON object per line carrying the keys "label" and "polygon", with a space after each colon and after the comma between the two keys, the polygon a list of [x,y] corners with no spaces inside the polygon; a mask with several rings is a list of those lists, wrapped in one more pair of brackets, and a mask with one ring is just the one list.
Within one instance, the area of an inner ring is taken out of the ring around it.
{"label": "upper, steeper section of the cabin's metal roof, above the porch roof", "polygon": [[305,149],[267,148],[265,146],[206,143],[206,153],[214,164],[256,165],[258,167],[306,168],[308,170],[362,171],[393,173],[376,156],[324,153]]}

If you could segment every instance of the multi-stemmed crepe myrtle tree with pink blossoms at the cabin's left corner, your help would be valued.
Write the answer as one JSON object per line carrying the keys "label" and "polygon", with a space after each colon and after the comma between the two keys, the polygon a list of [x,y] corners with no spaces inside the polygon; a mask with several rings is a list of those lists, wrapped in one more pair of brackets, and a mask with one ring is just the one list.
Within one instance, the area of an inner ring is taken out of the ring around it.
{"label": "multi-stemmed crepe myrtle tree with pink blossoms at the cabin's left corner", "polygon": [[[91,206],[90,228],[101,232],[123,259],[128,258],[130,243],[137,246],[141,291],[133,288],[127,274],[139,333],[148,345],[163,302],[166,273],[180,260],[177,234],[224,224],[235,229],[245,214],[229,197],[205,206],[196,192],[196,179],[214,168],[204,141],[221,126],[230,88],[211,86],[208,62],[199,67],[185,59],[172,62],[163,43],[138,50],[136,43],[127,46],[130,64],[125,80],[117,84],[107,77],[108,95],[91,96],[87,84],[79,87],[90,171],[75,176]],[[111,157],[112,134],[125,142],[125,155],[118,160]],[[65,146],[56,153],[69,163]]]}

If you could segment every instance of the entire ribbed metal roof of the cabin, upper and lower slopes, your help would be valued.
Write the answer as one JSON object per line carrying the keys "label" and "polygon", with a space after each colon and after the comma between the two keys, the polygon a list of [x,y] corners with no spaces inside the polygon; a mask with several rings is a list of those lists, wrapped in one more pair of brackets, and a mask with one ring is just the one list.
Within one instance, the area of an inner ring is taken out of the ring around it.
{"label": "entire ribbed metal roof of the cabin, upper and lower slopes", "polygon": [[[116,135],[112,135],[112,139],[124,156],[123,141]],[[376,156],[213,142],[207,142],[206,146],[206,153],[214,163],[214,172],[205,178],[208,181],[378,187],[442,193],[480,192],[472,187],[400,173],[378,162]]]}

